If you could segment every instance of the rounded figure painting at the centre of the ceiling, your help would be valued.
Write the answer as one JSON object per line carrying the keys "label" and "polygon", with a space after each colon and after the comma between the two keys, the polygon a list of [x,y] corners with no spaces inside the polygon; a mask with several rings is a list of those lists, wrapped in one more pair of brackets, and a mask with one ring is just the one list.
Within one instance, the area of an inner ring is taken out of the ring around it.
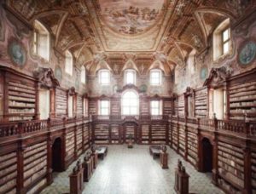
{"label": "rounded figure painting at the centre of the ceiling", "polygon": [[155,26],[165,0],[99,0],[104,23],[113,31],[136,35]]}

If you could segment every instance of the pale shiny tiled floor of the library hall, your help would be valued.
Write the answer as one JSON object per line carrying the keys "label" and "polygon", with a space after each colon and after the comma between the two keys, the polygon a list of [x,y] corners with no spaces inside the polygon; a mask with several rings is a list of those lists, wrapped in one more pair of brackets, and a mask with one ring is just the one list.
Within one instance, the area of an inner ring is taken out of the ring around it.
{"label": "pale shiny tiled floor of the library hall", "polygon": [[[176,193],[174,185],[174,169],[178,156],[168,148],[169,169],[160,168],[159,160],[149,155],[148,145],[135,145],[128,149],[126,145],[109,145],[108,155],[99,160],[95,173],[88,183],[84,184],[84,194],[167,194]],[[182,159],[183,161],[183,159]],[[55,174],[52,185],[42,191],[46,194],[69,192],[68,174],[73,163],[66,172]],[[189,178],[190,193],[220,194],[223,193],[212,185],[209,174],[201,174],[189,163],[183,161]]]}

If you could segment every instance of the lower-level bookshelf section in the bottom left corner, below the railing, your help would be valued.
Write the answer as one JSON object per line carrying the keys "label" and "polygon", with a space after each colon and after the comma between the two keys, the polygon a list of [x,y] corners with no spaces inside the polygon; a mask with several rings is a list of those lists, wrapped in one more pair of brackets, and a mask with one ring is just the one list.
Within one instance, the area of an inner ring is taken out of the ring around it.
{"label": "lower-level bookshelf section in the bottom left corner, below the railing", "polygon": [[0,156],[0,193],[16,193],[17,153],[9,152]]}

